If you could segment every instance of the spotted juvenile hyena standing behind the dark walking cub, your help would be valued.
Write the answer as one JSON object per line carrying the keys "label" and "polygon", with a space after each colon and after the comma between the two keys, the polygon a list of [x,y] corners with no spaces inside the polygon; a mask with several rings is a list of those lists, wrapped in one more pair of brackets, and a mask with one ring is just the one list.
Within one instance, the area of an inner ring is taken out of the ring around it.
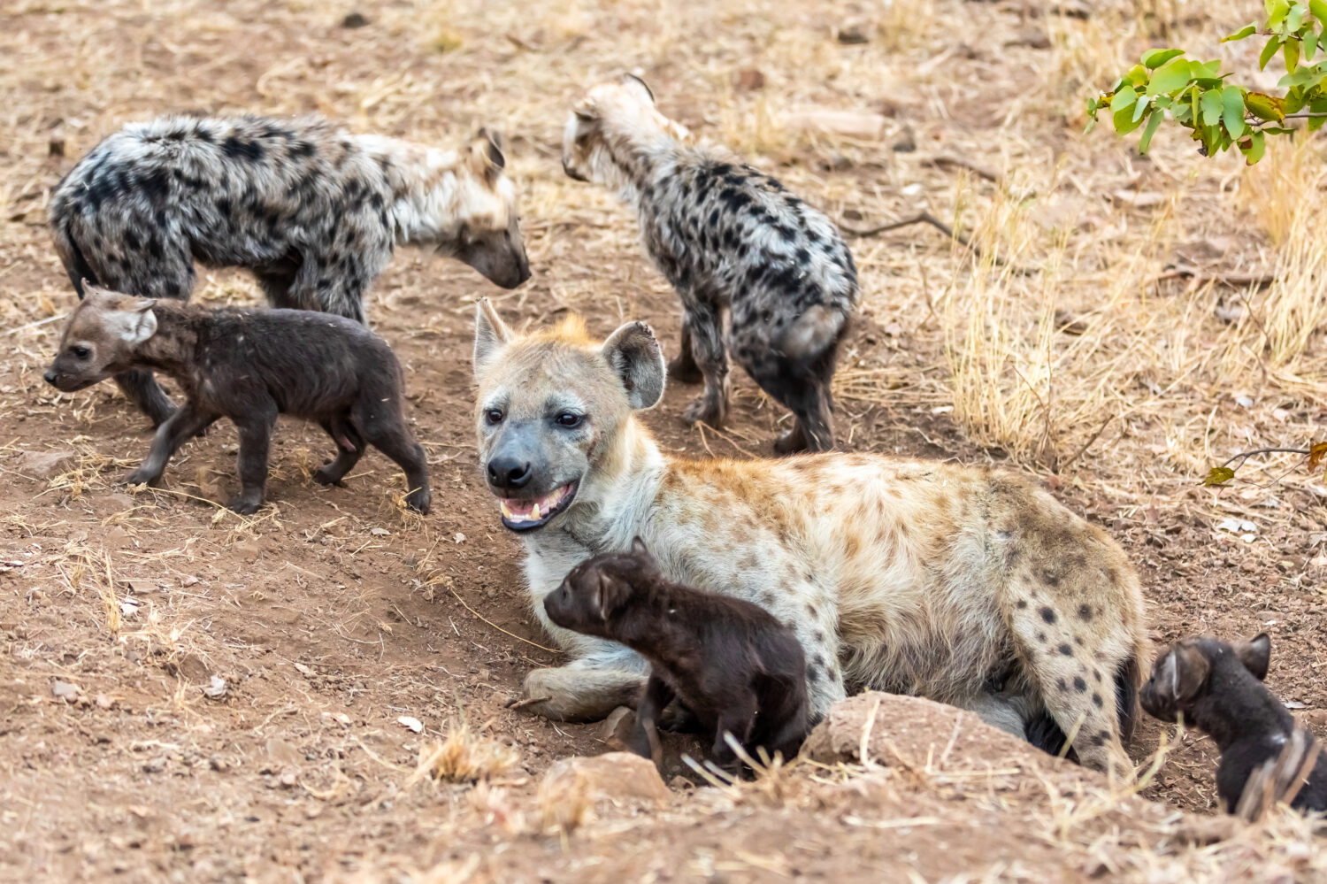
{"label": "spotted juvenile hyena standing behind the dark walking cub", "polygon": [[[354,135],[321,118],[163,117],[130,123],[69,171],[50,226],[82,279],[183,297],[194,263],[244,267],[273,307],[365,321],[364,296],[397,244],[431,247],[506,288],[529,277],[498,141],[460,150]],[[147,372],[115,381],[159,425]]]}

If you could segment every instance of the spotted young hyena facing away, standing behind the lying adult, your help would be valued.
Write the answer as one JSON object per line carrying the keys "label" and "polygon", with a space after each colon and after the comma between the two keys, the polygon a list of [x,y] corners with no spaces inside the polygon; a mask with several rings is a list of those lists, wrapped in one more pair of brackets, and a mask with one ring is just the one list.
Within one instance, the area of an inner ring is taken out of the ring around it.
{"label": "spotted young hyena facing away, standing behind the lying adult", "polygon": [[636,77],[594,86],[576,105],[563,167],[636,207],[645,250],[682,299],[669,372],[705,381],[685,418],[723,425],[731,353],[796,418],[778,451],[831,449],[829,384],[861,297],[833,223],[729,151],[693,143]]}

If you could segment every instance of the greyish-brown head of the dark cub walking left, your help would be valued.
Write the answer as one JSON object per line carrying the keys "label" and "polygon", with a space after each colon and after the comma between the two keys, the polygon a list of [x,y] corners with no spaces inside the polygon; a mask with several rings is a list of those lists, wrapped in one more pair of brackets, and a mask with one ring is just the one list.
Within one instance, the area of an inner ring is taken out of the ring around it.
{"label": "greyish-brown head of the dark cub walking left", "polygon": [[133,365],[134,350],[157,332],[147,297],[98,288],[82,280],[86,292],[60,338],[60,352],[42,376],[65,393],[82,390]]}

